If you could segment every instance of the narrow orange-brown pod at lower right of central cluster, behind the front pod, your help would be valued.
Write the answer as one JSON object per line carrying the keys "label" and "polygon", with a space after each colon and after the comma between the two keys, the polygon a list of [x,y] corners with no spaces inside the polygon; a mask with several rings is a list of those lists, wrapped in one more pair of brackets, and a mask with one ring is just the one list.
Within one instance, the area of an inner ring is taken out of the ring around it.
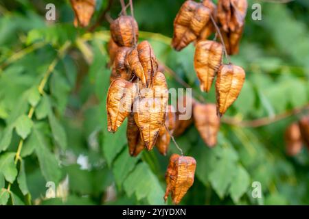
{"label": "narrow orange-brown pod at lower right of central cluster, behind the front pod", "polygon": [[[170,130],[171,134],[174,131],[175,122],[176,122],[176,114],[174,107],[172,105],[168,105],[168,112],[166,112],[165,114],[165,126],[168,127],[168,130]],[[168,153],[168,146],[170,145],[170,138],[171,138],[170,133],[168,133],[165,126],[163,125],[161,127],[156,142],[158,151],[164,156]]]}

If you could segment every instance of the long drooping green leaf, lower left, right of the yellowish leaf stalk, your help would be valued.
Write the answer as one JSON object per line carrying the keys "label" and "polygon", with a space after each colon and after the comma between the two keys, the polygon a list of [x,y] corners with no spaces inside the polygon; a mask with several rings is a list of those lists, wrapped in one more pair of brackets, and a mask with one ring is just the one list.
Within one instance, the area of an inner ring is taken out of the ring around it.
{"label": "long drooping green leaf, lower left, right of the yellowish leaf stalk", "polygon": [[61,171],[58,166],[55,155],[49,151],[45,136],[38,127],[34,126],[34,149],[38,156],[38,162],[46,181],[54,181],[58,183],[61,177]]}

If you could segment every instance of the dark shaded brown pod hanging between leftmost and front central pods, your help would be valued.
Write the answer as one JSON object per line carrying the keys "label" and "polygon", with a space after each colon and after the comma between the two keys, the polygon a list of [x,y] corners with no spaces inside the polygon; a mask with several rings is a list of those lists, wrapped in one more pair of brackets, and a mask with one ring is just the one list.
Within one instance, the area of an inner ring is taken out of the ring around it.
{"label": "dark shaded brown pod hanging between leftmost and front central pods", "polygon": [[139,133],[139,127],[135,124],[134,115],[128,115],[128,125],[126,127],[126,138],[128,139],[129,153],[131,156],[136,157],[145,148],[144,142]]}

